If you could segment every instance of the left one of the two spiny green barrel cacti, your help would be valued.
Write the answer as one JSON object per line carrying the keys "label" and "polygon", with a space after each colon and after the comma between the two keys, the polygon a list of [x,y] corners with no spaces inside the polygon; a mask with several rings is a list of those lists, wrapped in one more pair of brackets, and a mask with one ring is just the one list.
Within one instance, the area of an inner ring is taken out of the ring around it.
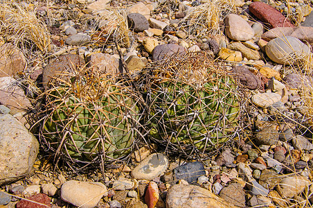
{"label": "left one of the two spiny green barrel cacti", "polygon": [[136,94],[91,70],[63,77],[69,79],[51,80],[46,92],[42,144],[74,166],[127,157],[138,128]]}

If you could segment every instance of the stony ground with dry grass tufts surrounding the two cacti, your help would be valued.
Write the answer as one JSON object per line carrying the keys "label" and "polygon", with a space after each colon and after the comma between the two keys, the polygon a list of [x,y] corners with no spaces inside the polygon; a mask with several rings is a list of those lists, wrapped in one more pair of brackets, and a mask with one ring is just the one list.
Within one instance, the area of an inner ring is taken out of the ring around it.
{"label": "stony ground with dry grass tufts surrounding the two cacti", "polygon": [[[1,2],[0,207],[312,207],[312,3]],[[141,142],[126,162],[75,173],[28,131],[56,71],[118,74],[123,58],[134,78],[186,53],[244,86],[242,137],[207,156]]]}

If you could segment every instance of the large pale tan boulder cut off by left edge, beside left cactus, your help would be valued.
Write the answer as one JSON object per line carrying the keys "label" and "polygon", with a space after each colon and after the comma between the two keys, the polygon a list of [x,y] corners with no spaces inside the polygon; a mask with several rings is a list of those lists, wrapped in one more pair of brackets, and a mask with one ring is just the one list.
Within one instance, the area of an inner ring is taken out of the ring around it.
{"label": "large pale tan boulder cut off by left edge, beside left cactus", "polygon": [[37,159],[39,144],[10,114],[0,114],[0,147],[0,185],[28,175]]}

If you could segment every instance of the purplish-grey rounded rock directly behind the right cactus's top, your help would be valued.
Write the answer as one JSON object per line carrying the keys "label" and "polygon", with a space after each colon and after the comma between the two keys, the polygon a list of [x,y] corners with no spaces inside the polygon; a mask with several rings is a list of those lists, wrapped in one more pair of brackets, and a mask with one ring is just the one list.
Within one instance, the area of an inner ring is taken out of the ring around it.
{"label": "purplish-grey rounded rock directly behind the right cactus's top", "polygon": [[152,60],[163,60],[172,55],[175,57],[183,56],[186,54],[186,51],[183,46],[177,44],[162,44],[158,45],[152,51]]}

